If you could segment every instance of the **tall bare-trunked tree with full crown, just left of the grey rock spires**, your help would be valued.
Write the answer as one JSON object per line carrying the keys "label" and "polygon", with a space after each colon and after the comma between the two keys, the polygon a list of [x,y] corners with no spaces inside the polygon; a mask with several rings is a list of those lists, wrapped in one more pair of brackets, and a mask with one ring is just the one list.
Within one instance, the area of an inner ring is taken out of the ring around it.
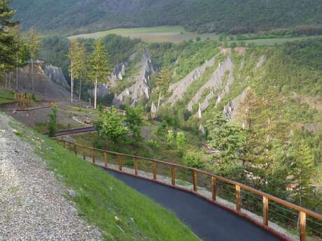
{"label": "tall bare-trunked tree with full crown, just left of the grey rock spires", "polygon": [[101,40],[96,41],[90,58],[90,76],[94,82],[94,109],[97,106],[97,85],[103,83],[109,75],[109,57]]}

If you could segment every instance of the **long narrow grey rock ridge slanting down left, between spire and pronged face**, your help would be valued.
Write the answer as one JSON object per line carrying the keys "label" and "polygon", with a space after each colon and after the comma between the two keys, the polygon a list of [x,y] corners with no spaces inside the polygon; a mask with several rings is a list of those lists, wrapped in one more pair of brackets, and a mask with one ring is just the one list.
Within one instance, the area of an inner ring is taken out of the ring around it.
{"label": "long narrow grey rock ridge slanting down left, between spire and pronged face", "polygon": [[167,103],[171,103],[172,106],[174,104],[181,100],[183,97],[183,94],[187,91],[187,89],[190,87],[190,85],[199,80],[204,71],[207,70],[207,68],[214,66],[216,61],[216,58],[213,57],[206,63],[204,63],[202,66],[195,68],[192,72],[190,72],[188,75],[186,75],[185,78],[180,80],[179,82],[176,82],[173,85],[170,85],[169,87],[169,92],[172,92],[172,96],[170,96],[169,100]]}

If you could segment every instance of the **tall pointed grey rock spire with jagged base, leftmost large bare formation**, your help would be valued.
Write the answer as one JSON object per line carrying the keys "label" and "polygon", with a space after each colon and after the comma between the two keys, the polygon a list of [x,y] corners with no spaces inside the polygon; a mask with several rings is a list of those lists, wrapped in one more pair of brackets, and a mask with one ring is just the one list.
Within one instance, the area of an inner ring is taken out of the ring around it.
{"label": "tall pointed grey rock spire with jagged base, leftmost large bare formation", "polygon": [[120,95],[113,99],[113,104],[117,108],[120,107],[120,104],[125,100],[125,97],[129,97],[131,99],[132,105],[137,105],[142,97],[147,100],[150,98],[150,87],[148,85],[148,81],[150,80],[154,69],[146,48],[144,48],[144,54],[136,67],[139,68],[139,73],[133,76],[134,85],[125,89]]}

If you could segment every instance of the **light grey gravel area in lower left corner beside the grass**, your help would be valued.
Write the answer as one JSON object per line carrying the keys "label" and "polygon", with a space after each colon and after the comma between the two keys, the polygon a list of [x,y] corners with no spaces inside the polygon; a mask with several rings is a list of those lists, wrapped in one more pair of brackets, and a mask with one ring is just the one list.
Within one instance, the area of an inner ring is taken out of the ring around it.
{"label": "light grey gravel area in lower left corner beside the grass", "polygon": [[73,191],[46,170],[0,113],[0,240],[102,240],[68,200]]}

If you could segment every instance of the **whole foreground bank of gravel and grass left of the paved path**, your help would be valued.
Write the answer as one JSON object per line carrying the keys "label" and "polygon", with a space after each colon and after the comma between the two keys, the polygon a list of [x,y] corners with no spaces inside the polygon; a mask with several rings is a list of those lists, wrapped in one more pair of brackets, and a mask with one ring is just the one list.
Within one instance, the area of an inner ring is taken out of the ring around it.
{"label": "whole foreground bank of gravel and grass left of the paved path", "polygon": [[0,127],[6,240],[199,240],[174,214],[55,140],[2,112]]}

